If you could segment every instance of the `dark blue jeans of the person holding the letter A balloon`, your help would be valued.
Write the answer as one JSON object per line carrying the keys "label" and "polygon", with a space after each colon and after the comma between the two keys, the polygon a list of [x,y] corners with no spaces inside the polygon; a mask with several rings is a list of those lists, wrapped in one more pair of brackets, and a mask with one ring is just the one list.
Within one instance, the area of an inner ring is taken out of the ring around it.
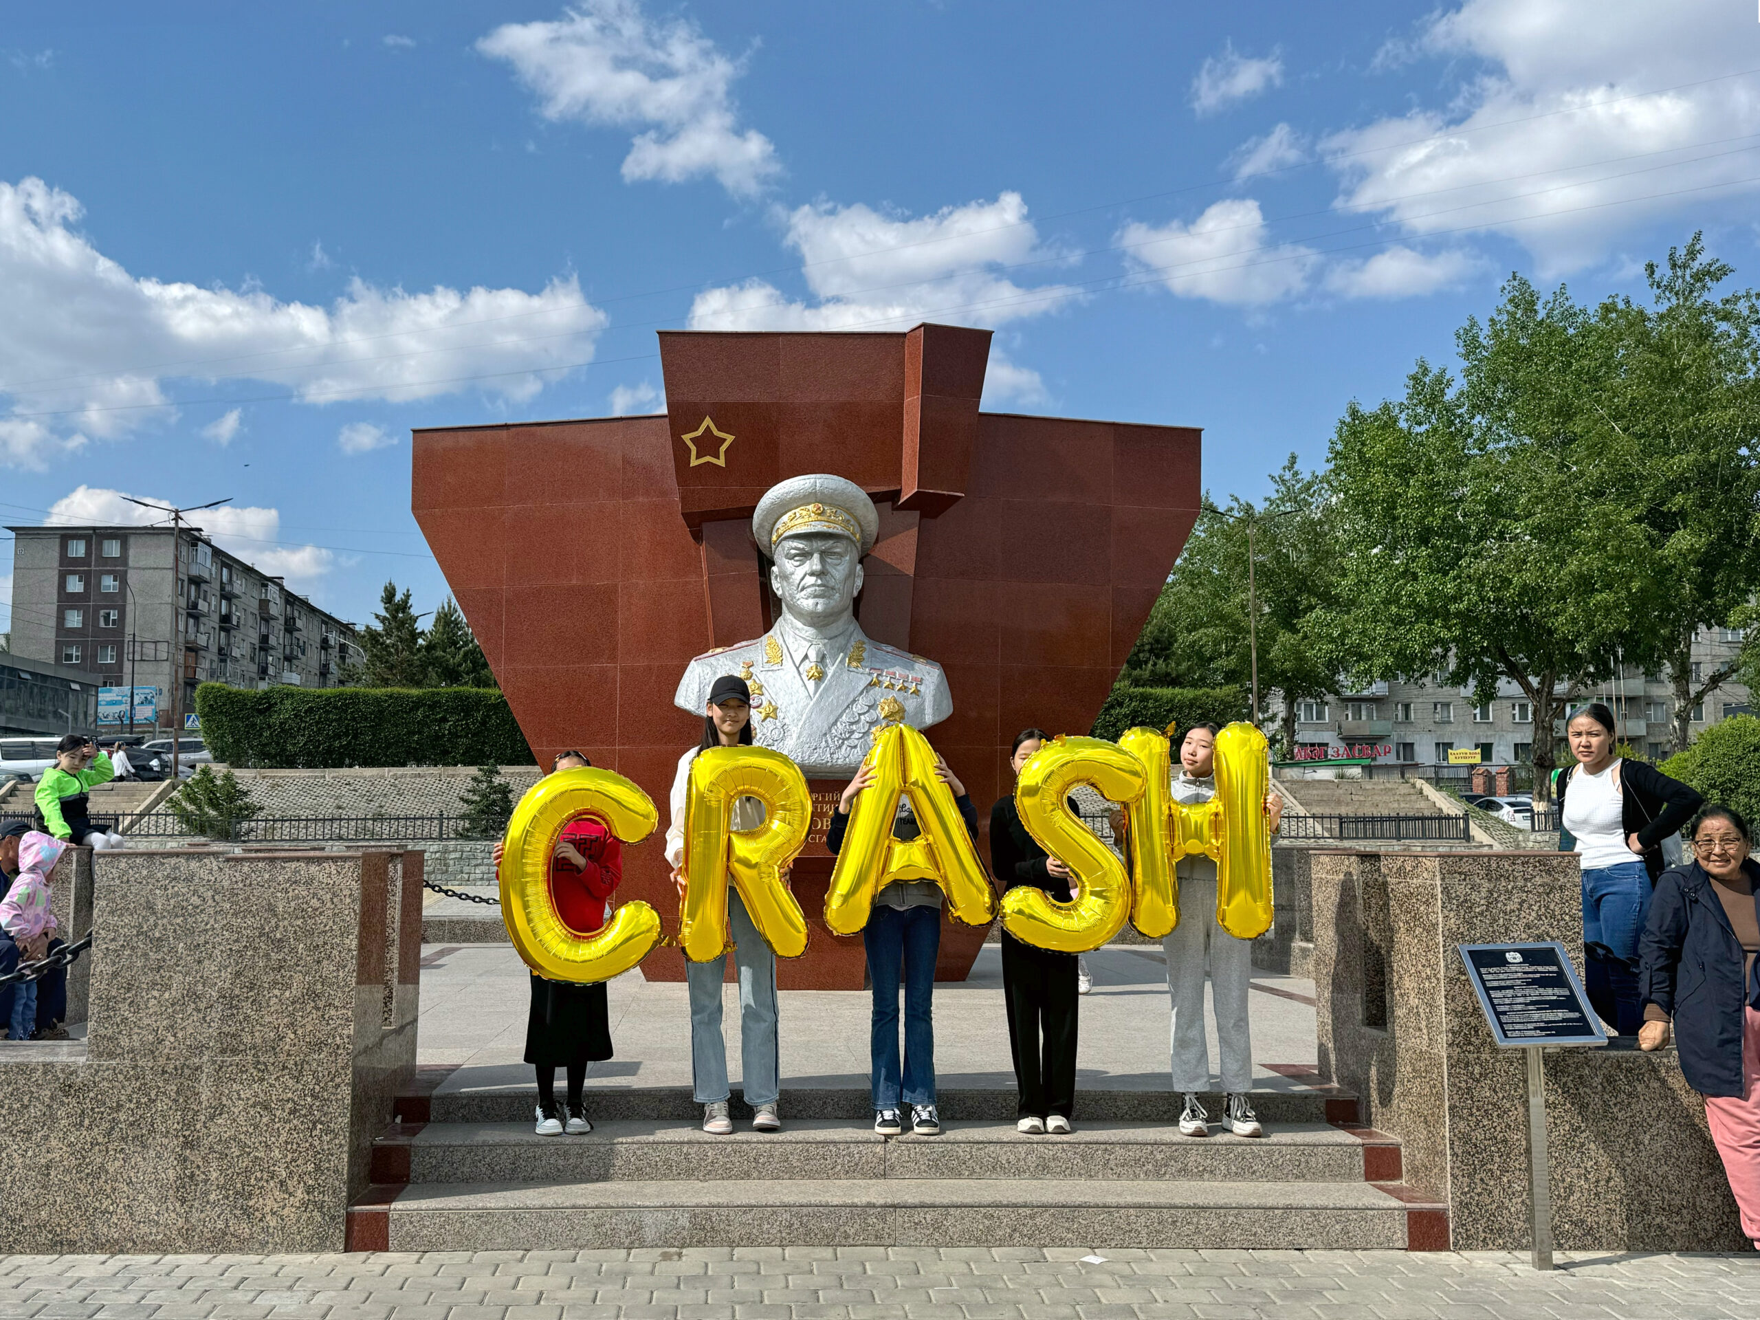
{"label": "dark blue jeans of the person holding the letter A balloon", "polygon": [[[862,928],[868,980],[875,993],[868,1051],[875,1109],[935,1104],[935,956],[942,949],[940,908],[875,903]],[[905,1070],[898,1067],[898,982],[905,966]]]}

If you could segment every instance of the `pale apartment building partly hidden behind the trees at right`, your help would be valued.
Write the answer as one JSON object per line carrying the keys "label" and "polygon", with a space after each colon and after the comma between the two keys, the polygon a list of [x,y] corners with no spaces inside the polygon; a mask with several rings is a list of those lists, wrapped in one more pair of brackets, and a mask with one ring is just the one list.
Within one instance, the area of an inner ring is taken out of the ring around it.
{"label": "pale apartment building partly hidden behind the trees at right", "polygon": [[[1739,628],[1704,628],[1693,639],[1693,683],[1730,664],[1741,649]],[[1563,688],[1559,688],[1563,693]],[[1626,669],[1598,685],[1580,702],[1600,700],[1614,711],[1619,737],[1647,757],[1670,755],[1674,686]],[[1725,681],[1693,708],[1693,736],[1732,715],[1751,715],[1749,692]],[[1281,713],[1280,713],[1281,715]],[[1376,764],[1445,766],[1454,750],[1477,750],[1485,766],[1524,766],[1533,753],[1533,702],[1510,679],[1496,695],[1475,702],[1473,690],[1440,676],[1373,683],[1325,700],[1304,700],[1295,711],[1299,759],[1369,755]]]}

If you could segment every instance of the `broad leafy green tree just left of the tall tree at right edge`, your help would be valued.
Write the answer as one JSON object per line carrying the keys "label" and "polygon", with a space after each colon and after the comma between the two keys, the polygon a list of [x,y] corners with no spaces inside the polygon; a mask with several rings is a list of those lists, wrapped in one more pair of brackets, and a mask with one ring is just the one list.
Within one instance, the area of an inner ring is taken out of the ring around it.
{"label": "broad leafy green tree just left of the tall tree at right edge", "polygon": [[1510,276],[1456,336],[1461,384],[1419,361],[1406,394],[1352,403],[1332,438],[1338,579],[1331,634],[1359,678],[1436,674],[1533,706],[1544,794],[1565,706],[1614,669],[1649,591],[1633,584],[1630,498],[1602,482],[1586,415],[1605,340],[1561,287]]}

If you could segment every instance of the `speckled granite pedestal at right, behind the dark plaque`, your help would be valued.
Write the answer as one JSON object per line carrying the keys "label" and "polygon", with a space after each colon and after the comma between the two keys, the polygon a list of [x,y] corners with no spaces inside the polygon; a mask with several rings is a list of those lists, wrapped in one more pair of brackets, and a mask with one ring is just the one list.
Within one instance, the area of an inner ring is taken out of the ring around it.
{"label": "speckled granite pedestal at right, behind the dark plaque", "polygon": [[[1406,1181],[1447,1200],[1456,1250],[1526,1248],[1522,1052],[1492,1044],[1456,945],[1558,940],[1580,972],[1575,857],[1304,855],[1322,1077],[1399,1137]],[[1554,1049],[1545,1070],[1561,1250],[1746,1248],[1672,1051]]]}

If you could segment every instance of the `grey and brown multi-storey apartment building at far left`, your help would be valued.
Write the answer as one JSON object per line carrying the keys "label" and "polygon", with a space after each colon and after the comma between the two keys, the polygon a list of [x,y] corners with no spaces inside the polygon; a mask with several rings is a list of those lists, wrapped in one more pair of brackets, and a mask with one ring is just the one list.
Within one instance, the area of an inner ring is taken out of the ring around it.
{"label": "grey and brown multi-storey apartment building at far left", "polygon": [[14,526],[12,653],[100,686],[336,686],[361,665],[352,623],[289,591],[195,528]]}

